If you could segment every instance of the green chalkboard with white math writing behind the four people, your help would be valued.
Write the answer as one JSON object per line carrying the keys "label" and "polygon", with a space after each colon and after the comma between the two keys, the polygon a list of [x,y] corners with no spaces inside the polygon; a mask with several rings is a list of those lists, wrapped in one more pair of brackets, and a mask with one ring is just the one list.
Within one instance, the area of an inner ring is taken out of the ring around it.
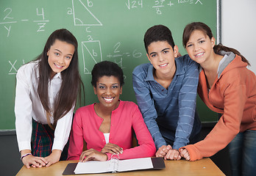
{"label": "green chalkboard with white math writing behind the four people", "polygon": [[[217,31],[217,2],[209,0],[1,0],[0,1],[0,130],[15,128],[15,73],[35,59],[51,32],[65,28],[79,42],[79,70],[86,105],[95,102],[90,71],[96,62],[110,60],[124,70],[122,100],[135,101],[132,70],[149,62],[143,34],[156,24],[171,29],[181,54],[182,30],[187,23],[207,23]],[[216,114],[198,103],[202,121]],[[201,115],[202,114],[202,115]]]}

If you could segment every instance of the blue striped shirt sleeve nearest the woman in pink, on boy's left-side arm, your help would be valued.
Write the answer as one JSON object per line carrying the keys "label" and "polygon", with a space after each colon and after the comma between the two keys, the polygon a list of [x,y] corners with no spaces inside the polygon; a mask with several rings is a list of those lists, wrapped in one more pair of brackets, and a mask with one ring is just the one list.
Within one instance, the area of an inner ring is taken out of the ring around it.
{"label": "blue striped shirt sleeve nearest the woman in pink, on boy's left-side arm", "polygon": [[133,89],[144,122],[149,128],[149,132],[151,133],[152,138],[154,139],[154,144],[158,150],[162,145],[166,145],[166,141],[163,139],[156,122],[157,111],[154,108],[154,100],[152,99],[151,92],[143,76],[146,71],[147,70],[143,70],[140,66],[135,68],[132,73]]}

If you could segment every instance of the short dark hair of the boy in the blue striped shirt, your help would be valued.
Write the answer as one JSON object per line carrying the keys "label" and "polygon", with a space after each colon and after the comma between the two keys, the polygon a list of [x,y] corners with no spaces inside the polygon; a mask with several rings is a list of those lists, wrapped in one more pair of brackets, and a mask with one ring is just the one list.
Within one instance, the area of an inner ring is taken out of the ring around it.
{"label": "short dark hair of the boy in the blue striped shirt", "polygon": [[144,35],[144,45],[147,54],[149,45],[158,41],[166,41],[174,48],[174,39],[172,38],[170,29],[163,25],[155,25],[149,28]]}

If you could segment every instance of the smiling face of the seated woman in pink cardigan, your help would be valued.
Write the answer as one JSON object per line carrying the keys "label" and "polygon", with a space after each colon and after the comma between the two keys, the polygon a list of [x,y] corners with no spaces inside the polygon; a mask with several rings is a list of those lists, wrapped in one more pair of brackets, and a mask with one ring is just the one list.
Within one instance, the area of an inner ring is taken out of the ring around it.
{"label": "smiling face of the seated woman in pink cardigan", "polygon": [[120,81],[115,76],[102,76],[93,87],[95,95],[99,99],[99,106],[104,109],[114,110],[118,107],[119,96],[122,93]]}

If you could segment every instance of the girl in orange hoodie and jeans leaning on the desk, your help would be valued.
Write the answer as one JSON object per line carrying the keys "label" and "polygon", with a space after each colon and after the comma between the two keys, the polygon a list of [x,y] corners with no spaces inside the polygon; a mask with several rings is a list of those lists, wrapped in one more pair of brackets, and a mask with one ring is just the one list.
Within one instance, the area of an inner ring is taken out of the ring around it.
{"label": "girl in orange hoodie and jeans leaning on the desk", "polygon": [[232,175],[256,175],[256,76],[246,68],[249,62],[235,49],[215,45],[205,23],[189,23],[182,40],[201,66],[200,98],[222,114],[204,140],[179,149],[182,157],[196,161],[229,144]]}

